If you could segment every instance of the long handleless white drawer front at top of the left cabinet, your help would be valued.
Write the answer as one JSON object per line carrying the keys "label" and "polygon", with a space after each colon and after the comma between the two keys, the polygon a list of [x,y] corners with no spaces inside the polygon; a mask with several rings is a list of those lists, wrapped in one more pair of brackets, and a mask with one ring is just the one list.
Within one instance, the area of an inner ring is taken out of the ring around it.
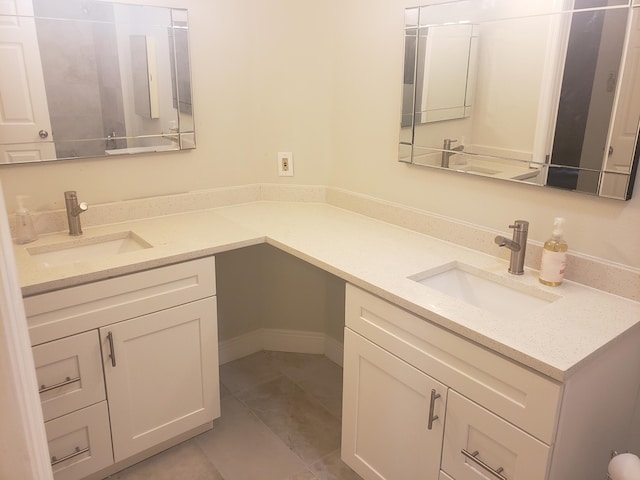
{"label": "long handleless white drawer front at top of the left cabinet", "polygon": [[24,300],[31,344],[215,295],[213,257],[79,285]]}

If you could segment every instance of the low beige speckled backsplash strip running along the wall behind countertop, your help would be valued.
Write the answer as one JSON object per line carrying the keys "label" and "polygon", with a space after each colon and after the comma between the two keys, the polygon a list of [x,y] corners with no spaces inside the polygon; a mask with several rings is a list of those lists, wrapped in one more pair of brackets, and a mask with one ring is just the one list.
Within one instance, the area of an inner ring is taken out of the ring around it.
{"label": "low beige speckled backsplash strip running along the wall behind countertop", "polygon": [[[82,225],[84,227],[108,225],[255,201],[327,203],[498,258],[509,258],[509,251],[496,249],[493,241],[497,234],[504,234],[504,232],[320,185],[251,184],[90,205],[89,210],[82,214]],[[39,235],[62,232],[67,229],[66,212],[63,209],[34,211],[32,216]],[[10,225],[13,234],[15,215],[10,215]],[[537,270],[541,254],[542,244],[530,240],[527,243],[525,265]],[[571,252],[571,250],[568,255],[569,268],[565,275],[567,280],[640,301],[640,272],[624,265]]]}

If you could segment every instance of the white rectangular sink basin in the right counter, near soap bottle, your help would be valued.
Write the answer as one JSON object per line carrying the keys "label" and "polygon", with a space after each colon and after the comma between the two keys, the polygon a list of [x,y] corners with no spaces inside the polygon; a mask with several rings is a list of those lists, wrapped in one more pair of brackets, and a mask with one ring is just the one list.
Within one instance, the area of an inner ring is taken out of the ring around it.
{"label": "white rectangular sink basin in the right counter, near soap bottle", "polygon": [[517,318],[543,308],[560,297],[515,280],[452,262],[409,277],[475,307],[503,317]]}

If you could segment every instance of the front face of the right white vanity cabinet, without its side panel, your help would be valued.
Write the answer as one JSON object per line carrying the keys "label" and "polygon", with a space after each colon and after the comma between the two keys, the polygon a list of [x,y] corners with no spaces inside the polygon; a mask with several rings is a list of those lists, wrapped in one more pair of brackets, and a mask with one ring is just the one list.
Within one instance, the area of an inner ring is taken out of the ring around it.
{"label": "front face of the right white vanity cabinet, without its side panel", "polygon": [[363,478],[544,479],[561,392],[347,285],[342,458]]}

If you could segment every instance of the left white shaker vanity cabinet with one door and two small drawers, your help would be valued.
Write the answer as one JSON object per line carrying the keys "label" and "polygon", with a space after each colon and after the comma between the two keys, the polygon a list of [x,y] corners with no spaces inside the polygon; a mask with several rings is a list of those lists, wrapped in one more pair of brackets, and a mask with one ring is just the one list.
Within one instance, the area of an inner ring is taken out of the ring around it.
{"label": "left white shaker vanity cabinet with one door and two small drawers", "polygon": [[101,478],[210,428],[215,293],[210,257],[25,298],[56,480]]}

